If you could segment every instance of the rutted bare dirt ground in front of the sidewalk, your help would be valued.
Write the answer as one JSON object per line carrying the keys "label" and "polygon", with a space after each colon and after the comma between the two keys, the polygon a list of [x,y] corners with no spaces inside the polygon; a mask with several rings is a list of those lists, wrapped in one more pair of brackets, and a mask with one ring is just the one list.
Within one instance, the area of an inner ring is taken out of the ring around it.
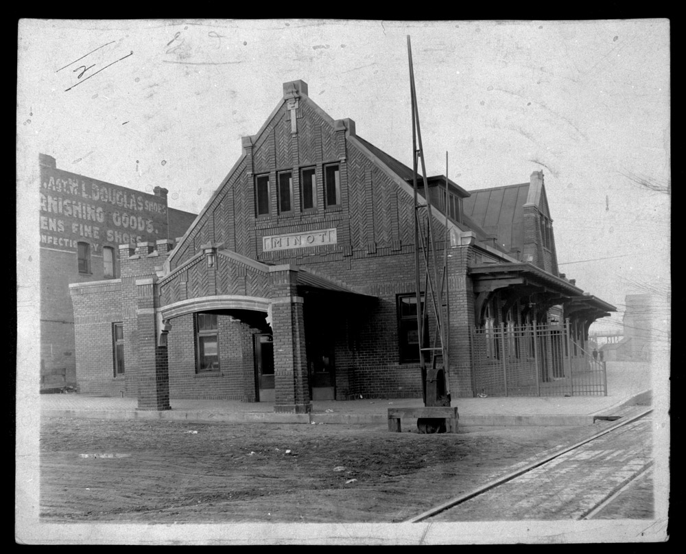
{"label": "rutted bare dirt ground in front of the sidewalk", "polygon": [[190,424],[45,419],[46,522],[399,522],[504,474],[584,427]]}

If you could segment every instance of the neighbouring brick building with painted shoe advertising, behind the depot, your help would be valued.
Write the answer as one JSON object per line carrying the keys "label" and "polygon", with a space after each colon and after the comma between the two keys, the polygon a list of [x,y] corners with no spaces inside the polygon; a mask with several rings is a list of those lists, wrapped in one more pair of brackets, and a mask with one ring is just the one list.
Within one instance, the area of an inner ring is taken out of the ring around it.
{"label": "neighbouring brick building with painted shoe advertising, behind the depot", "polygon": [[145,194],[97,181],[46,154],[39,163],[40,389],[50,391],[76,384],[69,284],[115,281],[120,244],[180,237],[196,215],[169,208],[161,187]]}

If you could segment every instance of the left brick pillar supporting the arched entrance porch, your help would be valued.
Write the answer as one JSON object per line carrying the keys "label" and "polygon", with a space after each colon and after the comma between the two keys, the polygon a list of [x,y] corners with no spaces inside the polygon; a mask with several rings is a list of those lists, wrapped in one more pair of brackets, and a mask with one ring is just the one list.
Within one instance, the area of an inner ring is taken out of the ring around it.
{"label": "left brick pillar supporting the arched entrance porch", "polygon": [[163,411],[169,406],[167,347],[158,346],[155,279],[137,279],[138,409]]}

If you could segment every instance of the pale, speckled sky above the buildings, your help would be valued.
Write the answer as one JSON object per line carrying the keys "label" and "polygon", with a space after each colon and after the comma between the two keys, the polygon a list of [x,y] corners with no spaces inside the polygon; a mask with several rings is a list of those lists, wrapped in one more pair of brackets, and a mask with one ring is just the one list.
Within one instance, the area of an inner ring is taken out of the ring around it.
{"label": "pale, speckled sky above the buildings", "polygon": [[38,251],[38,152],[198,213],[290,80],[411,165],[408,35],[428,174],[446,152],[468,191],[543,170],[560,271],[618,309],[593,329],[650,292],[666,333],[667,20],[23,20],[19,266]]}

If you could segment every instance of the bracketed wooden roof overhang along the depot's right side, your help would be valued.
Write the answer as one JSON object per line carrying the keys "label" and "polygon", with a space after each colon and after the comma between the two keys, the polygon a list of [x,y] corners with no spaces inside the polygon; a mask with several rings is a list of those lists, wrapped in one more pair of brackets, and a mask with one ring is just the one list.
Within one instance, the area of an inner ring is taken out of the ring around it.
{"label": "bracketed wooden roof overhang along the depot's right side", "polygon": [[467,270],[477,295],[475,301],[476,322],[480,322],[484,305],[495,291],[504,297],[504,312],[507,312],[517,299],[534,297],[541,310],[547,311],[551,306],[565,306],[565,314],[582,310],[584,315],[598,319],[614,312],[616,308],[590,295],[569,281],[556,277],[532,264],[496,263],[478,264]]}

